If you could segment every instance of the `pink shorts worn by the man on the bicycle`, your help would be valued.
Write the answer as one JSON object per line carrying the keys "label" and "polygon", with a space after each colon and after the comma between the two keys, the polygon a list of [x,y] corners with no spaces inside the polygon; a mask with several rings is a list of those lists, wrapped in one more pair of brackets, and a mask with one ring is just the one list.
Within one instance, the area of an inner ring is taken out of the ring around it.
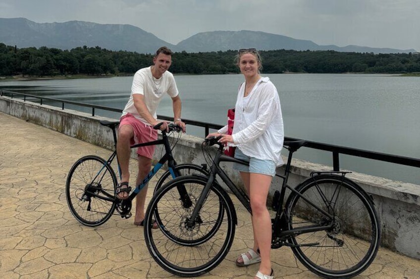
{"label": "pink shorts worn by the man on the bicycle", "polygon": [[[157,130],[136,119],[132,114],[126,114],[120,118],[119,127],[122,125],[130,125],[133,128],[134,138],[130,140],[131,145],[157,140]],[[138,155],[149,159],[153,158],[153,153],[155,153],[155,145],[137,148]]]}

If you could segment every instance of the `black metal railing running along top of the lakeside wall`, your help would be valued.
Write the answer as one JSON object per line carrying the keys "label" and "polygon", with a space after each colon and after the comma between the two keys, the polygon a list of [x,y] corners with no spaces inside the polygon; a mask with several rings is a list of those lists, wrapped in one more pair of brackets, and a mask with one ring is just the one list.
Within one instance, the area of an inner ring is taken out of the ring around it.
{"label": "black metal railing running along top of the lakeside wall", "polygon": [[[41,105],[43,104],[43,100],[50,100],[50,101],[58,102],[58,103],[61,103],[62,110],[64,110],[64,104],[90,107],[92,108],[92,116],[95,116],[95,109],[122,113],[122,110],[120,109],[114,109],[114,108],[80,103],[80,102],[67,101],[67,100],[62,100],[62,99],[41,97],[41,96],[30,95],[26,93],[0,90],[0,96],[3,96],[4,94],[9,95],[11,98],[13,98],[14,96],[22,96],[24,101],[26,101],[27,97],[39,99]],[[161,120],[168,120],[168,121],[173,120],[171,117],[161,116],[161,115],[158,115],[157,118]],[[220,129],[222,127],[222,125],[220,124],[214,124],[214,123],[208,123],[208,122],[202,122],[202,121],[195,121],[195,120],[189,120],[189,119],[183,119],[183,121],[189,125],[204,127],[205,128],[204,136],[209,134],[210,129]],[[297,138],[290,138],[290,137],[285,137],[285,139],[286,140],[300,140]],[[340,154],[367,158],[367,159],[374,159],[374,160],[385,161],[385,162],[391,162],[391,163],[396,163],[396,164],[401,164],[401,165],[420,167],[420,159],[416,159],[416,158],[390,155],[390,154],[385,154],[385,153],[372,152],[372,151],[367,151],[367,150],[362,150],[362,149],[349,148],[349,147],[319,143],[319,142],[314,142],[314,141],[307,141],[307,144],[305,145],[305,147],[331,152],[332,161],[333,161],[333,169],[335,171],[338,171],[340,169],[340,159],[339,159]]]}

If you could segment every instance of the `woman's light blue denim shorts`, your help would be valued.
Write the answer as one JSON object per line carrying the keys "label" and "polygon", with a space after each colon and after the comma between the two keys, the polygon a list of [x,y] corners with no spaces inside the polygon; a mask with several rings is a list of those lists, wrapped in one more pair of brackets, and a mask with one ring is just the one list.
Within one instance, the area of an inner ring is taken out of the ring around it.
{"label": "woman's light blue denim shorts", "polygon": [[272,160],[262,160],[246,156],[239,150],[239,148],[235,149],[235,158],[247,161],[250,165],[247,166],[240,163],[234,163],[233,169],[243,172],[260,173],[270,176],[275,175],[276,164]]}

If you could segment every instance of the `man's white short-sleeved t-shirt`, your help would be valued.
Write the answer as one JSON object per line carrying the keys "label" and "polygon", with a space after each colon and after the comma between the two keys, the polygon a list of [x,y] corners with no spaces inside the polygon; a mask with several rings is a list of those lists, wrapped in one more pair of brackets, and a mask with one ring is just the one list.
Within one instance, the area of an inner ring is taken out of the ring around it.
{"label": "man's white short-sleeved t-shirt", "polygon": [[134,74],[133,84],[131,85],[131,95],[125,105],[122,115],[132,114],[138,120],[149,124],[138,113],[134,106],[133,95],[143,94],[146,107],[150,114],[156,119],[157,106],[162,97],[168,94],[171,98],[178,96],[178,88],[172,73],[166,71],[160,79],[156,79],[152,75],[151,67],[140,69]]}

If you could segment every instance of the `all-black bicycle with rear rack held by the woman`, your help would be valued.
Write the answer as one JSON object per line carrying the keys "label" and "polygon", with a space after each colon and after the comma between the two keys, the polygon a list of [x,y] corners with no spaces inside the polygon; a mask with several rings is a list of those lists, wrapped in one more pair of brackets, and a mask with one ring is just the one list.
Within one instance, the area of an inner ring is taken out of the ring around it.
{"label": "all-black bicycle with rear rack held by the woman", "polygon": [[[159,216],[159,229],[144,228],[147,247],[157,263],[171,274],[195,277],[215,268],[228,253],[237,216],[216,176],[251,212],[245,191],[237,187],[219,162],[247,164],[223,155],[218,138],[203,142],[211,161],[209,175],[182,176],[163,185],[151,199],[146,222]],[[373,199],[345,177],[348,172],[314,172],[295,188],[287,184],[293,153],[306,141],[287,141],[289,150],[281,189],[275,191],[272,218],[273,249],[289,246],[299,261],[324,278],[351,278],[368,268],[380,244],[380,222]],[[210,146],[218,144],[214,156]],[[178,193],[185,187],[189,206]],[[287,191],[286,191],[287,190]],[[286,202],[284,203],[284,200]]]}

